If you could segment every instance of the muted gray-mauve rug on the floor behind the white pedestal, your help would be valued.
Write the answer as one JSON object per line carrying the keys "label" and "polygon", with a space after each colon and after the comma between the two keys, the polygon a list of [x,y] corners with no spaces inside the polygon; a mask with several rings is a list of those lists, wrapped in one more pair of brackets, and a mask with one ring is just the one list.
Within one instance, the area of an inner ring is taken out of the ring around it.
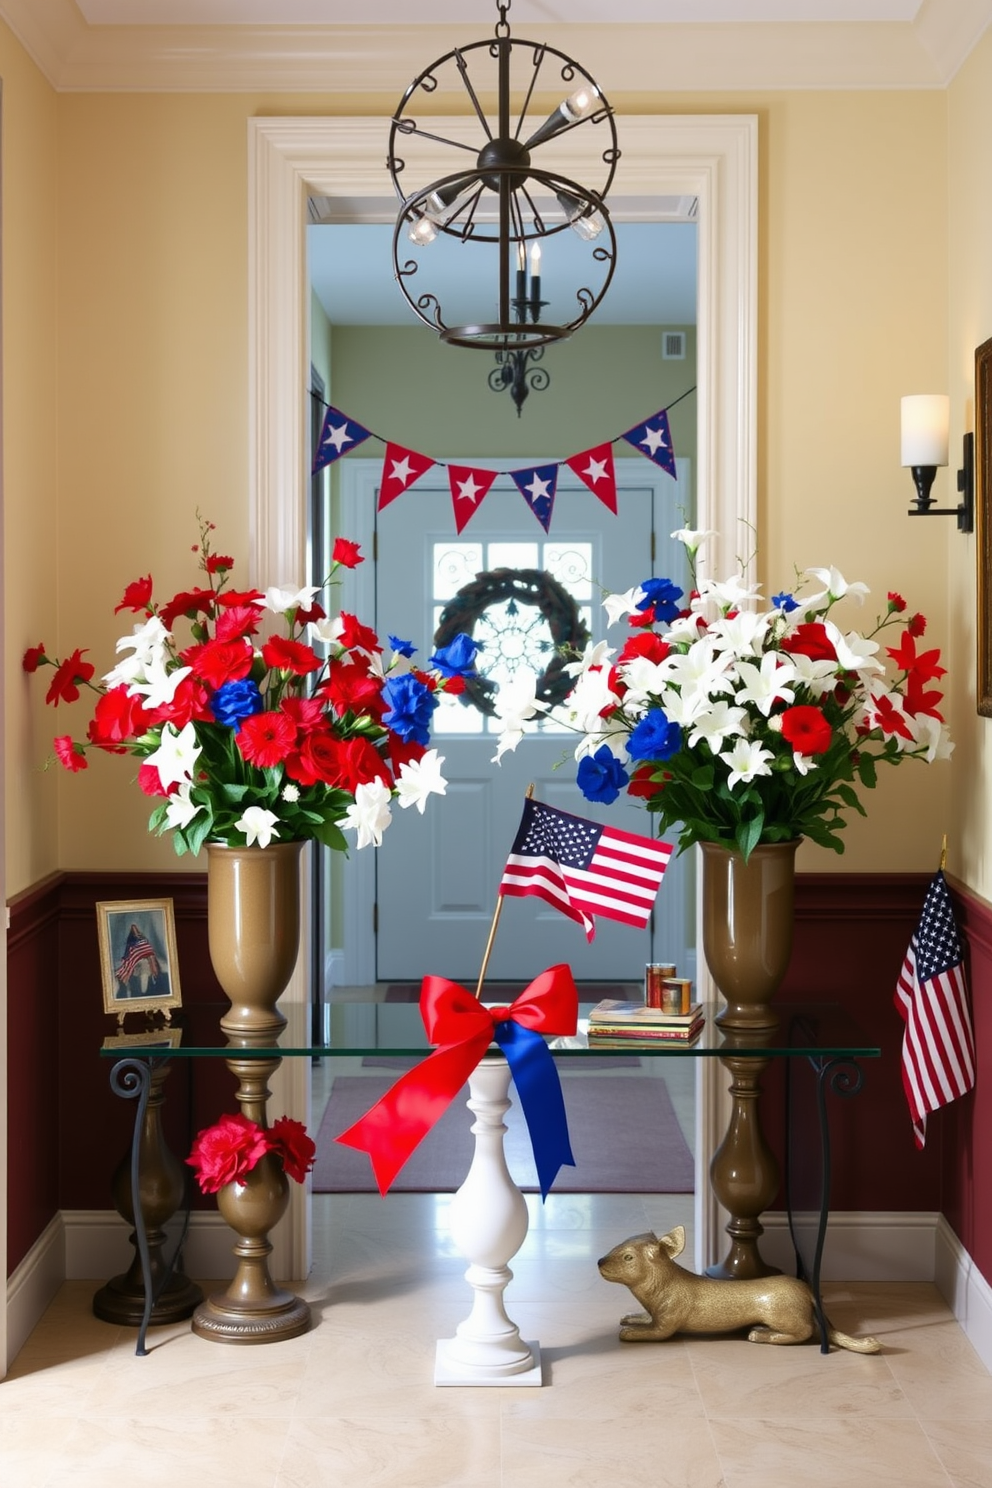
{"label": "muted gray-mauve rug on the floor behind the white pedestal", "polygon": [[[555,1193],[692,1193],[695,1165],[668,1086],[645,1074],[562,1074],[574,1168],[562,1168]],[[347,1131],[394,1082],[375,1074],[336,1076],[317,1134],[315,1193],[376,1193],[364,1152],[342,1147]],[[468,1088],[415,1149],[393,1193],[454,1193],[471,1164]],[[540,1192],[526,1123],[513,1086],[504,1150],[515,1183]]]}

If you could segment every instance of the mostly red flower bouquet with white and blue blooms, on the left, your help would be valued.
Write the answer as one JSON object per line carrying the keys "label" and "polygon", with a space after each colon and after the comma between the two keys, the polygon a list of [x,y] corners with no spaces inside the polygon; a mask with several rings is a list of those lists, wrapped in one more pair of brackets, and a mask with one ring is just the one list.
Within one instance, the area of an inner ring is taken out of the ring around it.
{"label": "mostly red flower bouquet with white and blue blooms, on the left", "polygon": [[[149,827],[171,832],[178,854],[208,839],[265,848],[315,838],[344,850],[342,827],[358,847],[378,845],[393,801],[422,812],[431,793],[445,793],[431,714],[439,692],[464,687],[474,641],[460,635],[419,668],[415,647],[391,635],[387,659],[354,615],[329,619],[315,586],[229,588],[233,559],[213,552],[211,531],[201,521],[202,585],[164,604],[150,574],[125,588],[115,613],[140,620],[98,683],[82,649],[64,661],[43,644],[25,652],[25,671],[54,668],[52,707],[95,693],[86,741],[59,735],[57,759],[79,772],[92,750],[137,756],[138,786],[159,798]],[[332,558],[326,585],[363,562],[345,537]],[[284,634],[265,634],[266,622]]]}

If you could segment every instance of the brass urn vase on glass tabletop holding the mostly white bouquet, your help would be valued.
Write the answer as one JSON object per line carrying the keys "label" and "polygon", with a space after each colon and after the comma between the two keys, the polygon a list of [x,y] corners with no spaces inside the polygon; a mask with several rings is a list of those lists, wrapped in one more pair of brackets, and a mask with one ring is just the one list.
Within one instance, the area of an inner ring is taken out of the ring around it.
{"label": "brass urn vase on glass tabletop holding the mostly white bouquet", "polygon": [[773,1028],[772,997],[793,952],[793,842],[756,847],[744,854],[717,842],[700,842],[702,948],[727,1006],[723,1028]]}

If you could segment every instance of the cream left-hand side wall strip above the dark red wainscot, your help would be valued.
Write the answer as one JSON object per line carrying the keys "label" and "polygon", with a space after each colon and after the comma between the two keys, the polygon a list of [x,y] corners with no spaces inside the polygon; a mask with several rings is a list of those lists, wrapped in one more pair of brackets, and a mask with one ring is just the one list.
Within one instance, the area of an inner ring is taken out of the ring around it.
{"label": "cream left-hand side wall strip above the dark red wainscot", "polygon": [[[58,568],[58,100],[6,27],[3,79],[3,540],[7,893],[58,862],[57,777],[45,775],[42,677],[28,646],[55,646]],[[31,698],[34,695],[34,698]],[[51,710],[49,710],[51,711]]]}

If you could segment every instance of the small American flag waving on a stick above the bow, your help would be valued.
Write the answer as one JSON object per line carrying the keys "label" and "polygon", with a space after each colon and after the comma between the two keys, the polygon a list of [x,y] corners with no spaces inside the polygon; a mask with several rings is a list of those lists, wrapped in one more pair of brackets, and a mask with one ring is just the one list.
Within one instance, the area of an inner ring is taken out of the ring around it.
{"label": "small American flag waving on a stick above the bow", "polygon": [[526,799],[501,894],[537,894],[586,930],[593,915],[644,929],[672,850],[668,842],[604,827]]}

